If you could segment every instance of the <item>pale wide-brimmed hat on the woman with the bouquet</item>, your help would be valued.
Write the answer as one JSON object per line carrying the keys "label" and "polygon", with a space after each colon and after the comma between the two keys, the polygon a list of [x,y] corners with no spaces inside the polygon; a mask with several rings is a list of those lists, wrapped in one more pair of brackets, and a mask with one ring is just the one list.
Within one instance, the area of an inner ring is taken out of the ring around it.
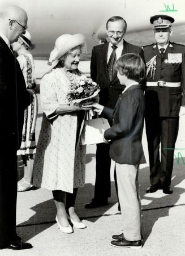
{"label": "pale wide-brimmed hat on the woman with the bouquet", "polygon": [[48,65],[52,65],[52,62],[61,58],[71,49],[80,47],[81,53],[85,53],[85,37],[81,33],[75,35],[65,34],[59,36],[55,41],[55,47],[51,51],[49,56]]}

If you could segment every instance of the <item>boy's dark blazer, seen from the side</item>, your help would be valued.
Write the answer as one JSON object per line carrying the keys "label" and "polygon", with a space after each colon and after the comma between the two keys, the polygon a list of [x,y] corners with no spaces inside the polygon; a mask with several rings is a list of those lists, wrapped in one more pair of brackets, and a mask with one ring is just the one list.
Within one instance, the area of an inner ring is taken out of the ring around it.
{"label": "boy's dark blazer, seen from the side", "polygon": [[117,163],[145,163],[141,143],[144,125],[144,94],[140,85],[132,85],[119,96],[114,110],[104,107],[102,116],[113,119],[104,133],[111,140],[110,157]]}

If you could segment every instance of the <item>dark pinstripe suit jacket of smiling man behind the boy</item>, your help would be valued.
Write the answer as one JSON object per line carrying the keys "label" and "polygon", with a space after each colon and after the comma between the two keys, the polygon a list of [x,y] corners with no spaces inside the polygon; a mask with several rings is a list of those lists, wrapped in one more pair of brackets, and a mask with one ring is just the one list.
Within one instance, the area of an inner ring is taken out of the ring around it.
{"label": "dark pinstripe suit jacket of smiling man behind the boy", "polygon": [[[114,74],[112,81],[109,79],[107,71],[108,48],[109,42],[93,47],[91,57],[91,78],[100,85],[100,104],[114,108],[119,94],[122,93],[125,86],[119,83],[117,72]],[[123,40],[122,54],[124,53],[136,53],[144,58],[143,50],[140,47],[129,44],[125,40]]]}

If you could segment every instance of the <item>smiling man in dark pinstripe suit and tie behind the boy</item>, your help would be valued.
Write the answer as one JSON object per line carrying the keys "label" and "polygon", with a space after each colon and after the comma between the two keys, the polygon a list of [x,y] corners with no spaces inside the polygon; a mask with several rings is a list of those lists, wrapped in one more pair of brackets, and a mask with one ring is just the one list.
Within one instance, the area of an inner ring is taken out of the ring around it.
{"label": "smiling man in dark pinstripe suit and tie behind the boy", "polygon": [[[124,53],[133,52],[143,57],[141,48],[123,40],[126,29],[127,23],[122,17],[111,17],[106,23],[110,41],[92,49],[91,78],[100,85],[100,104],[110,108],[115,107],[118,96],[123,90],[117,78],[117,71],[114,69],[115,61]],[[91,203],[85,205],[85,208],[107,204],[107,198],[110,197],[110,163],[109,145],[97,144],[94,198]],[[115,172],[114,179],[117,188]]]}

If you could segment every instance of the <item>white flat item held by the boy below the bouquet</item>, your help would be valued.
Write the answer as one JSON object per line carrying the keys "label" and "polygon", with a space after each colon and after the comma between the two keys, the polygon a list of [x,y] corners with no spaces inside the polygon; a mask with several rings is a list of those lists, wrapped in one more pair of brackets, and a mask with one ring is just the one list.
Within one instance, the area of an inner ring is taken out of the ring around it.
{"label": "white flat item held by the boy below the bouquet", "polygon": [[88,119],[84,122],[81,132],[81,145],[93,145],[103,143],[104,132],[110,125],[105,118]]}

